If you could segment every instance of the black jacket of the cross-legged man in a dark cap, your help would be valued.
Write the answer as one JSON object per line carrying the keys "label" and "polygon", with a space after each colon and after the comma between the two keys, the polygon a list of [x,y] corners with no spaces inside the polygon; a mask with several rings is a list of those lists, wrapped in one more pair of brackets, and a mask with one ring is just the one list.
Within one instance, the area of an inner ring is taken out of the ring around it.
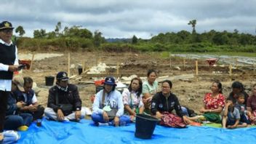
{"label": "black jacket of the cross-legged man in a dark cap", "polygon": [[[58,93],[58,94],[57,94]],[[60,108],[56,103],[56,95],[58,95],[58,104],[71,104],[73,111],[81,110],[81,99],[79,97],[79,90],[76,85],[68,84],[68,91],[64,92],[57,88],[57,86],[49,89],[47,107],[52,108],[55,112]]]}

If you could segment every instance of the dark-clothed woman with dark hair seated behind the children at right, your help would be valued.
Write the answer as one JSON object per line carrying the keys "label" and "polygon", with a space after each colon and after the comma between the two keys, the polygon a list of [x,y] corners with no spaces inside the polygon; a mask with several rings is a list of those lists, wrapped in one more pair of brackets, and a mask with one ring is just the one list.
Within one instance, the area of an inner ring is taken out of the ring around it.
{"label": "dark-clothed woman with dark hair seated behind the children at right", "polygon": [[243,93],[244,94],[244,105],[247,105],[247,99],[249,95],[247,92],[244,92],[244,85],[241,84],[239,81],[234,81],[232,84],[232,92],[228,95],[227,100],[231,100],[233,103],[236,103],[238,97],[237,94]]}

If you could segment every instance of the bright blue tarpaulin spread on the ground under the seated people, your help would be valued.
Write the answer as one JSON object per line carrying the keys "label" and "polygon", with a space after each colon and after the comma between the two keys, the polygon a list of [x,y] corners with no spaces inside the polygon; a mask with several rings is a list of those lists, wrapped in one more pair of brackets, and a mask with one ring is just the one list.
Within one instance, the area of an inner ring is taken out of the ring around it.
{"label": "bright blue tarpaulin spread on the ground under the seated people", "polygon": [[256,128],[222,129],[214,127],[192,127],[177,129],[156,126],[152,139],[135,137],[135,124],[126,127],[95,127],[90,120],[57,122],[43,119],[41,127],[31,124],[28,131],[20,132],[18,143],[255,143]]}

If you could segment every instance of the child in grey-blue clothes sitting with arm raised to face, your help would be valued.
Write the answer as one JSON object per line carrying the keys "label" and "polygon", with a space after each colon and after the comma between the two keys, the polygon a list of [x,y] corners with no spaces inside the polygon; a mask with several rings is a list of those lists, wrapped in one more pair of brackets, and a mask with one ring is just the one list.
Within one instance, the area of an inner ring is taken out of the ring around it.
{"label": "child in grey-blue clothes sitting with arm raised to face", "polygon": [[225,104],[223,113],[223,128],[234,129],[236,127],[247,127],[247,123],[240,122],[240,113],[234,107],[231,100]]}

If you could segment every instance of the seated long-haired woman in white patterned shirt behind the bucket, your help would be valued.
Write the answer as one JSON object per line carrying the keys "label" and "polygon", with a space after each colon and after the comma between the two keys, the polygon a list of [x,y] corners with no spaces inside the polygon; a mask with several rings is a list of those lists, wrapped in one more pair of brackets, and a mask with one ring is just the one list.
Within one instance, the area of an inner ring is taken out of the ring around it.
{"label": "seated long-haired woman in white patterned shirt behind the bucket", "polygon": [[141,79],[133,78],[128,89],[124,89],[122,93],[124,110],[129,113],[131,121],[135,118],[136,113],[143,113],[144,111],[142,89],[143,82]]}

